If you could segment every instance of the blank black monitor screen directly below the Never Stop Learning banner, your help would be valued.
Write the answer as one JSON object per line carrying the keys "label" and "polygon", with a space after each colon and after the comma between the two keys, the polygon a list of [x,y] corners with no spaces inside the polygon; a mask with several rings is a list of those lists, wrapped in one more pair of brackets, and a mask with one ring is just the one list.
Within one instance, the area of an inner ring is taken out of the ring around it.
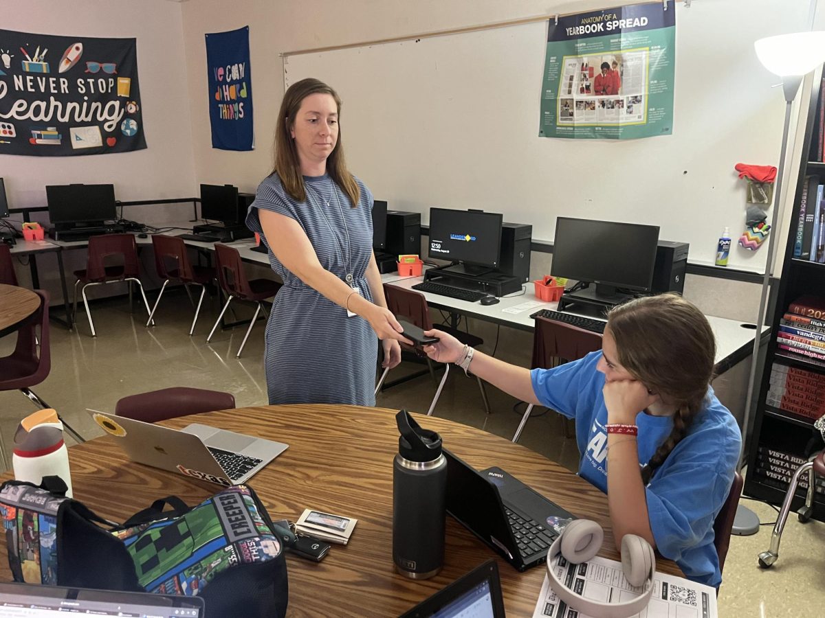
{"label": "blank black monitor screen directly below the Never Stop Learning banner", "polygon": [[46,204],[52,223],[113,221],[115,185],[49,185]]}

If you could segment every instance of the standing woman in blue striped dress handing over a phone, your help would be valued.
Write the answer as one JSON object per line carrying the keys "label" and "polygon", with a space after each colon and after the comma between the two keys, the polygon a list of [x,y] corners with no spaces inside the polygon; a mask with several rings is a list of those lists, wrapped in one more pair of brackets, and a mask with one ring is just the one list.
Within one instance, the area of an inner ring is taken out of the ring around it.
{"label": "standing woman in blue striped dress handing over a phone", "polygon": [[275,170],[247,214],[284,281],[266,323],[271,405],[375,405],[378,339],[384,367],[401,360],[401,325],[387,309],[372,252],[373,198],[347,171],[340,114],[341,99],[325,83],[290,86],[278,112]]}

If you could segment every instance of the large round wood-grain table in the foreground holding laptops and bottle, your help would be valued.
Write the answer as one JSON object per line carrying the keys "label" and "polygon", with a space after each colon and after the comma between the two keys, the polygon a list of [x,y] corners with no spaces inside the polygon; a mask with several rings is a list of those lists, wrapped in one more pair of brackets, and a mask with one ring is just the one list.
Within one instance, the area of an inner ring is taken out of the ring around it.
{"label": "large round wood-grain table in the foreground holding laptops and bottle", "polygon": [[[440,433],[445,446],[477,470],[500,466],[571,513],[601,523],[605,542],[599,554],[618,559],[607,497],[586,480],[491,433],[446,419],[414,416],[423,428]],[[441,573],[423,581],[395,573],[395,410],[273,405],[194,414],[162,424],[183,428],[191,423],[290,445],[248,481],[272,519],[285,517],[294,522],[304,508],[358,519],[349,544],[332,545],[320,563],[287,554],[287,616],[398,616],[490,558],[498,563],[507,616],[532,615],[544,569],[519,573],[452,517],[446,520]],[[206,481],[133,463],[109,436],[69,448],[68,457],[74,498],[101,517],[118,522],[170,494],[194,505],[220,489]],[[5,554],[5,543],[0,543],[0,578],[10,579]],[[681,575],[670,560],[659,559],[657,569]]]}

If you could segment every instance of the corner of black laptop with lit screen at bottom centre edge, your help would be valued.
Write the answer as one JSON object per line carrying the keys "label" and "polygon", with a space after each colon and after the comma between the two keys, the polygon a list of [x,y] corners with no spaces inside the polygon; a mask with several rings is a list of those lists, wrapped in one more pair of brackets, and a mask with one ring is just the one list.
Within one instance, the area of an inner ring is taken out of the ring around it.
{"label": "corner of black laptop with lit screen at bottom centre edge", "polygon": [[502,583],[495,560],[479,564],[468,574],[425,599],[400,618],[505,618]]}

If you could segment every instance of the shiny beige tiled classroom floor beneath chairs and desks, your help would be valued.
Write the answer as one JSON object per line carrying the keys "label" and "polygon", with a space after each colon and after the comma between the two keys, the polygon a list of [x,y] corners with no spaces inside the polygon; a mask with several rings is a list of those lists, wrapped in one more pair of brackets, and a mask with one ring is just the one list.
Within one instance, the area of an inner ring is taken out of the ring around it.
{"label": "shiny beige tiled classroom floor beneath chairs and desks", "polygon": [[[233,303],[234,304],[234,303]],[[217,303],[200,318],[196,336],[186,335],[191,307],[182,293],[164,296],[158,310],[157,325],[144,328],[143,314],[130,314],[125,300],[115,299],[93,307],[98,336],[88,335],[85,316],[80,314],[78,330],[68,332],[59,325],[51,330],[52,370],[37,394],[54,406],[68,423],[85,436],[101,433],[83,413],[87,407],[113,410],[122,396],[167,386],[200,386],[229,391],[238,406],[266,403],[266,379],[262,367],[262,322],[256,326],[244,349],[243,358],[235,352],[245,327],[217,332],[211,344],[205,338],[217,314]],[[241,316],[251,315],[242,308]],[[489,351],[496,341],[496,330],[488,325],[483,335]],[[12,337],[0,339],[0,354],[11,348]],[[497,356],[529,360],[530,336],[512,330],[500,334]],[[417,370],[404,363],[390,373],[398,377]],[[380,394],[378,405],[426,412],[435,385],[430,377],[419,377]],[[516,400],[492,386],[487,388],[493,414],[483,412],[479,388],[460,372],[452,372],[436,414],[461,423],[484,428],[511,438],[523,406],[513,411]],[[6,450],[21,417],[34,408],[17,392],[0,392],[0,435]],[[573,438],[563,437],[559,416],[546,413],[531,419],[521,444],[575,470],[578,452]],[[773,522],[774,511],[761,503],[744,500],[761,517]],[[734,536],[724,569],[724,584],[719,592],[719,616],[817,616],[825,606],[825,526],[821,522],[802,525],[790,517],[785,527],[780,559],[772,569],[757,566],[757,554],[770,545],[771,527],[764,526],[755,536]]]}

